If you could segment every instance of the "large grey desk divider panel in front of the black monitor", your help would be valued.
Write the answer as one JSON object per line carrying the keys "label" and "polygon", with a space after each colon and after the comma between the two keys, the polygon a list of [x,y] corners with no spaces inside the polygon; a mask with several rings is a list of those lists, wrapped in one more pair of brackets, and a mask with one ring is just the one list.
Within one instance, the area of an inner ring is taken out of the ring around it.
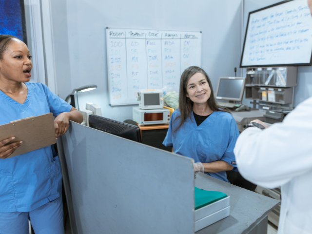
{"label": "large grey desk divider panel in front of the black monitor", "polygon": [[75,122],[58,149],[73,234],[194,233],[192,159]]}

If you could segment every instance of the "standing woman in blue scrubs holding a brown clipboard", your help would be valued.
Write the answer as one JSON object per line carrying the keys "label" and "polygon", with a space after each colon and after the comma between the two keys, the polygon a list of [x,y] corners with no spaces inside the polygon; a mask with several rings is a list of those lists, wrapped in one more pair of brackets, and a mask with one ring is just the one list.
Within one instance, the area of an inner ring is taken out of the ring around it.
{"label": "standing woman in blue scrubs holding a brown clipboard", "polygon": [[[20,118],[53,113],[55,135],[66,133],[69,120],[82,115],[41,83],[26,83],[32,70],[26,44],[0,35],[0,125]],[[21,144],[14,136],[0,139],[0,233],[63,234],[62,176],[58,156],[47,146],[10,156]]]}

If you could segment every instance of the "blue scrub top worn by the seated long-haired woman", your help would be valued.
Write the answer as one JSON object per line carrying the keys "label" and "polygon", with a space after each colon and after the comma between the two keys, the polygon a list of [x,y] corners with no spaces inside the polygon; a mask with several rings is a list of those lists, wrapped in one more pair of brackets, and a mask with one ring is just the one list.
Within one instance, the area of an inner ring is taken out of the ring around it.
{"label": "blue scrub top worn by the seated long-haired woman", "polygon": [[[215,111],[197,126],[193,112],[173,136],[173,130],[181,121],[177,109],[171,116],[165,146],[174,147],[175,153],[191,157],[195,162],[207,163],[223,160],[234,166],[237,171],[234,146],[239,136],[236,122],[232,115],[223,111]],[[174,121],[176,119],[176,121]],[[205,174],[229,182],[226,172]]]}

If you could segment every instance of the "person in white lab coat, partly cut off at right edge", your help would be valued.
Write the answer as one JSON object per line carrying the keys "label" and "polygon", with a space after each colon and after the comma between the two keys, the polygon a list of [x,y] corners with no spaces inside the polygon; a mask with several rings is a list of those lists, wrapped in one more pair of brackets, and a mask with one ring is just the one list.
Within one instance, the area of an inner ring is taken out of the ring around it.
{"label": "person in white lab coat, partly cut off at right edge", "polygon": [[[312,0],[308,0],[312,14]],[[236,141],[240,174],[266,188],[281,186],[278,234],[312,234],[312,98],[282,123],[250,127]]]}

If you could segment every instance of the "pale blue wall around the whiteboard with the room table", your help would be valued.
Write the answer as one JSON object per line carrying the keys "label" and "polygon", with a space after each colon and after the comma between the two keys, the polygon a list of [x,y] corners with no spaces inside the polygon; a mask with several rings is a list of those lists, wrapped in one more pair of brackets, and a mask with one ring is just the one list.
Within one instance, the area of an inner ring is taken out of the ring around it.
{"label": "pale blue wall around the whiteboard with the room table", "polygon": [[53,0],[51,13],[60,98],[97,84],[78,95],[79,106],[94,102],[105,117],[132,119],[133,107],[109,106],[106,27],[202,31],[202,68],[214,89],[239,67],[241,0]]}

